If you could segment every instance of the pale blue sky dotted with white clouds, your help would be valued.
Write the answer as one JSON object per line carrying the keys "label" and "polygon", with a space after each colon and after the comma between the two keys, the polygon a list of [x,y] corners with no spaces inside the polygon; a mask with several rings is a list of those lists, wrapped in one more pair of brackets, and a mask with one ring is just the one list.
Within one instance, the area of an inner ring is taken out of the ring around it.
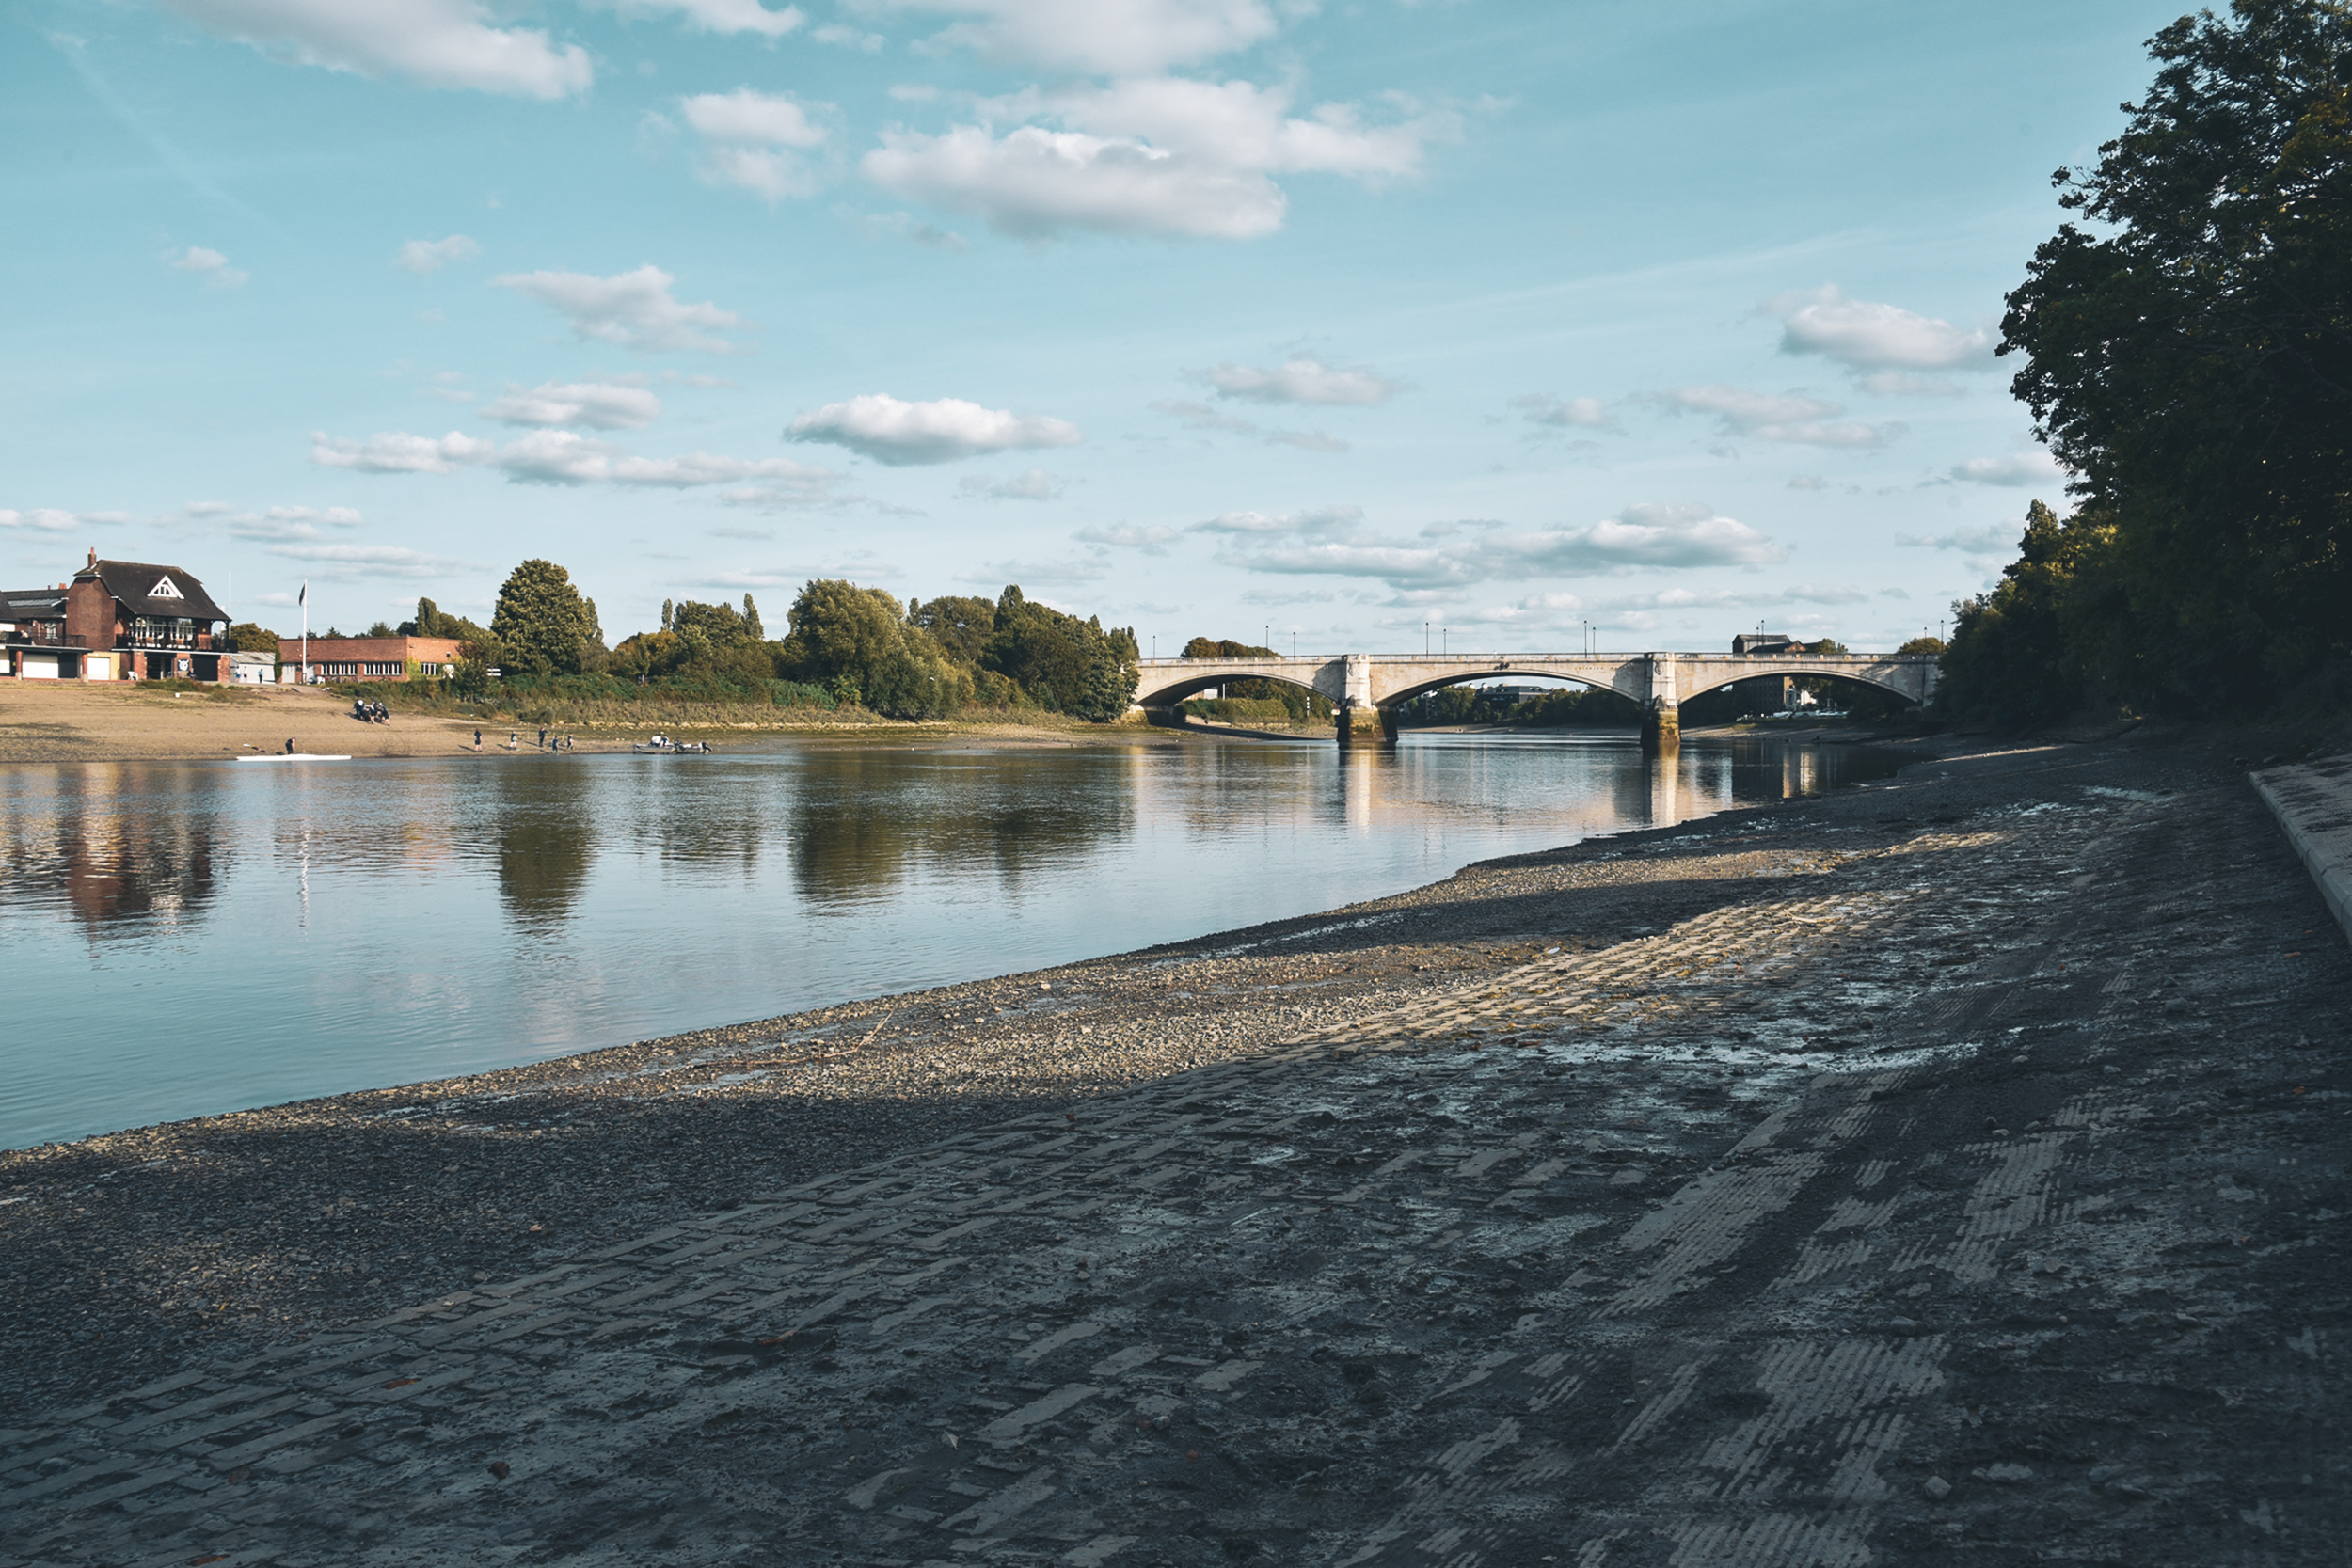
{"label": "pale blue sky dotted with white clouds", "polygon": [[2178,0],[14,0],[0,585],[1891,649]]}

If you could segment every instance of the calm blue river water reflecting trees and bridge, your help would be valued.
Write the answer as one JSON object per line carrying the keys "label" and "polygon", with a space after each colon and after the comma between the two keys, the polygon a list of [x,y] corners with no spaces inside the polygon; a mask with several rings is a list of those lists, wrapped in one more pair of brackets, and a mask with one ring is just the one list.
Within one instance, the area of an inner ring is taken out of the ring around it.
{"label": "calm blue river water reflecting trees and bridge", "polygon": [[1846,748],[0,766],[0,1147],[1124,952],[1889,771]]}

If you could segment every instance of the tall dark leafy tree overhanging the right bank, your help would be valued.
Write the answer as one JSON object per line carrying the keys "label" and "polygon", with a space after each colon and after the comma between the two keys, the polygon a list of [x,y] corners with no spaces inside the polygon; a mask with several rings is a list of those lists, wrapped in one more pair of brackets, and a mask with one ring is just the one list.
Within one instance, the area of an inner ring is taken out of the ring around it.
{"label": "tall dark leafy tree overhanging the right bank", "polygon": [[2013,390],[2114,524],[2136,663],[2265,696],[2347,658],[2352,5],[2237,0],[2159,71],[2009,296]]}

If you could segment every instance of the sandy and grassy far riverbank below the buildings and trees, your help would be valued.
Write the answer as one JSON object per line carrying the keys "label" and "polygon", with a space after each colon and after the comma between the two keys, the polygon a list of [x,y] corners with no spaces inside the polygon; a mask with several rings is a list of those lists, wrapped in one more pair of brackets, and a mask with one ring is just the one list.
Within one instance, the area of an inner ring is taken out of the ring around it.
{"label": "sandy and grassy far riverbank below the buildings and trees", "polygon": [[[727,710],[734,712],[734,710]],[[1169,731],[1141,724],[1087,724],[1063,715],[967,715],[938,724],[901,724],[866,712],[835,717],[816,708],[774,710],[774,719],[736,722],[663,710],[628,729],[574,731],[581,752],[628,750],[659,731],[715,745],[788,741],[938,743],[962,745],[1174,745]],[[350,701],[320,686],[209,686],[172,691],[146,684],[0,682],[0,762],[219,762],[254,752],[296,750],[350,757],[482,757],[539,752],[539,726],[426,712],[395,712],[388,724],[350,717]],[[515,745],[508,745],[508,736]]]}

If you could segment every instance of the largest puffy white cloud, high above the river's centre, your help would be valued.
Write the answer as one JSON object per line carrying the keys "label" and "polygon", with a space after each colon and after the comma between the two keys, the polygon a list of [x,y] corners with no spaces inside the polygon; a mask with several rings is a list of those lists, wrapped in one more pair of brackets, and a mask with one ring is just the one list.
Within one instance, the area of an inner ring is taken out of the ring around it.
{"label": "largest puffy white cloud, high above the river's centre", "polygon": [[1449,113],[1364,125],[1345,103],[1296,118],[1284,89],[1181,78],[1025,92],[978,108],[990,122],[1063,129],[891,129],[866,155],[866,176],[1011,235],[1091,228],[1251,240],[1282,228],[1289,212],[1272,174],[1411,176],[1430,141],[1461,129]]}

